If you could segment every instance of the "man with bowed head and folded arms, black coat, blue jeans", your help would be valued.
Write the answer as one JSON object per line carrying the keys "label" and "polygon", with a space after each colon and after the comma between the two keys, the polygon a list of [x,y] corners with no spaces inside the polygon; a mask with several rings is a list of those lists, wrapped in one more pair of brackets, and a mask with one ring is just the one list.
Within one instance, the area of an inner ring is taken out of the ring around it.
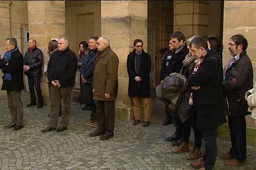
{"label": "man with bowed head and folded arms, black coat, blue jeans", "polygon": [[197,117],[196,125],[201,129],[206,145],[204,159],[191,163],[201,170],[212,170],[217,153],[217,127],[223,118],[221,65],[214,51],[207,53],[207,42],[203,37],[195,37],[189,48],[192,56],[200,60],[188,84],[192,88],[192,100]]}

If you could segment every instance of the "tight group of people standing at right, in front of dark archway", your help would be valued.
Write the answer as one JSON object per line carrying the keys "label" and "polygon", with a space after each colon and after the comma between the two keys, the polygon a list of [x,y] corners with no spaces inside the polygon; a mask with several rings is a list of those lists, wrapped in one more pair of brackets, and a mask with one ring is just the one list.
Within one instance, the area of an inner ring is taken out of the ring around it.
{"label": "tight group of people standing at right, in front of dark archway", "polygon": [[[188,87],[176,104],[181,106],[173,107],[172,101],[166,103],[163,125],[175,122],[176,127],[175,133],[166,141],[176,146],[173,153],[188,152],[192,127],[194,148],[186,159],[195,160],[202,156],[204,139],[206,148],[203,159],[191,163],[192,167],[200,170],[212,170],[215,165],[217,132],[218,127],[226,122],[225,113],[232,147],[220,157],[228,160],[224,164],[229,167],[240,166],[246,159],[245,116],[250,112],[247,111],[245,93],[253,87],[253,68],[246,53],[247,40],[243,35],[233,35],[228,49],[231,59],[223,69],[222,49],[217,38],[209,37],[206,41],[201,36],[193,36],[186,41],[184,34],[177,31],[172,34],[169,50],[163,57],[160,86],[166,86],[173,73],[179,73],[186,77]],[[178,88],[178,84],[176,86]],[[186,104],[182,102],[183,99]],[[184,109],[174,109],[179,107]]]}

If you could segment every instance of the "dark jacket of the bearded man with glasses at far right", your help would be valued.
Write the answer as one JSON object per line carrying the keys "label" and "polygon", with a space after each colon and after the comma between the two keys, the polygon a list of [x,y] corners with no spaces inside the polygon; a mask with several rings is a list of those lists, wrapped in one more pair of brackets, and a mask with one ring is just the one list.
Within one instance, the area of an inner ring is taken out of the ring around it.
{"label": "dark jacket of the bearded man with glasses at far right", "polygon": [[241,52],[240,59],[233,62],[227,69],[223,86],[230,115],[245,116],[250,114],[247,112],[248,105],[244,95],[253,88],[253,67],[246,51]]}

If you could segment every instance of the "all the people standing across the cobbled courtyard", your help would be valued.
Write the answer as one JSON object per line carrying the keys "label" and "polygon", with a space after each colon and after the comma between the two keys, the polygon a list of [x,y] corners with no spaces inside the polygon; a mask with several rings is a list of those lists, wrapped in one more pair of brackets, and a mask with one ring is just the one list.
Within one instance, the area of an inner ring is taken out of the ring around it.
{"label": "all the people standing across the cobbled courtyard", "polygon": [[[143,127],[147,127],[151,122],[151,57],[143,50],[142,40],[134,40],[133,45],[134,50],[127,57],[128,95],[134,103],[133,125],[138,125],[141,121],[140,102],[143,102]],[[4,73],[2,90],[7,91],[12,114],[12,122],[5,128],[13,130],[23,128],[23,72],[28,77],[31,94],[31,102],[27,107],[36,104],[34,86],[38,94],[37,107],[43,107],[40,88],[43,55],[36,47],[35,39],[29,39],[28,47],[23,59],[17,47],[17,40],[7,38],[6,53],[0,60],[0,68]],[[71,93],[79,68],[79,102],[85,104],[83,110],[91,110],[90,119],[84,121],[84,124],[97,127],[89,136],[100,136],[100,140],[112,138],[119,59],[111,50],[108,38],[90,37],[88,43],[80,42],[78,57],[69,49],[69,42],[64,37],[58,41],[50,41],[48,48],[43,72],[48,82],[51,110],[48,115],[49,124],[41,132],[61,132],[67,129],[71,113]],[[233,35],[228,49],[231,59],[223,69],[222,49],[217,38],[209,37],[206,41],[201,36],[193,36],[186,41],[184,34],[177,31],[172,34],[169,50],[163,57],[160,86],[166,85],[169,81],[167,79],[173,73],[175,79],[180,79],[177,74],[181,75],[181,79],[186,80],[183,86],[187,86],[175,102],[166,99],[166,120],[163,125],[175,122],[176,126],[175,134],[167,137],[166,141],[171,141],[173,146],[177,146],[173,153],[189,151],[192,127],[195,136],[194,149],[186,159],[195,160],[202,156],[201,146],[204,139],[206,150],[203,159],[191,163],[192,167],[201,170],[212,170],[215,165],[217,131],[218,127],[226,122],[224,113],[228,115],[232,147],[220,157],[230,159],[225,162],[225,165],[230,167],[239,166],[246,159],[245,116],[249,112],[244,95],[253,87],[253,68],[246,53],[247,40],[243,35]],[[181,102],[181,99],[185,102]],[[180,108],[178,105],[183,109],[177,109]],[[58,116],[62,116],[62,120],[57,127]]]}

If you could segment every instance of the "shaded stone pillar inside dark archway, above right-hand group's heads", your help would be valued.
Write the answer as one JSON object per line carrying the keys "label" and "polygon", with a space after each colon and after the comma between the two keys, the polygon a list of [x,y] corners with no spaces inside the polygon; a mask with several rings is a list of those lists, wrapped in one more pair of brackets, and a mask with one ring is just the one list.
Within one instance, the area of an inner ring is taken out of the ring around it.
{"label": "shaded stone pillar inside dark archway, above right-hand group's heads", "polygon": [[181,31],[186,39],[193,35],[207,38],[209,2],[204,0],[174,0],[174,32]]}

